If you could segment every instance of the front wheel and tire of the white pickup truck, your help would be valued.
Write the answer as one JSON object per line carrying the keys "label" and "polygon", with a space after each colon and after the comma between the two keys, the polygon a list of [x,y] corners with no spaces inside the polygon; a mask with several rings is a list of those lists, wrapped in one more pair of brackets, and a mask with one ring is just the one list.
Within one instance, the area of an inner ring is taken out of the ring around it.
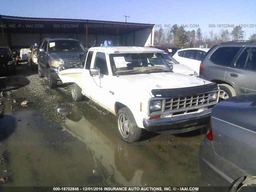
{"label": "front wheel and tire of the white pickup truck", "polygon": [[118,111],[116,125],[120,137],[126,142],[131,143],[140,140],[142,129],[137,126],[134,116],[128,107],[121,108]]}

